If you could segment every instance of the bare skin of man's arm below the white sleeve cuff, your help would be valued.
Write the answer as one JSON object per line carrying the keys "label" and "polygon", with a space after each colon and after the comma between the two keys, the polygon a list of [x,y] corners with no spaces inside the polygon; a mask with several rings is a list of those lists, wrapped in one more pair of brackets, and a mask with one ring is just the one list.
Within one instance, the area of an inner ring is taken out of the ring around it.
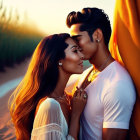
{"label": "bare skin of man's arm below the white sleeve cuff", "polygon": [[102,139],[103,140],[125,140],[127,136],[127,129],[116,128],[103,128]]}

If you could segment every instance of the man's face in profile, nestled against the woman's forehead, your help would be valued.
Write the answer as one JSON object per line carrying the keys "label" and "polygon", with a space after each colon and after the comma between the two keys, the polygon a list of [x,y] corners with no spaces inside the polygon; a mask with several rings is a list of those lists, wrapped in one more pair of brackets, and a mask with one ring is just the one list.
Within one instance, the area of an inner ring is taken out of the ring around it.
{"label": "man's face in profile, nestled against the woman's forehead", "polygon": [[80,31],[81,24],[74,24],[70,28],[70,34],[75,38],[79,47],[82,48],[85,60],[90,60],[97,51],[97,45],[91,41],[87,31]]}

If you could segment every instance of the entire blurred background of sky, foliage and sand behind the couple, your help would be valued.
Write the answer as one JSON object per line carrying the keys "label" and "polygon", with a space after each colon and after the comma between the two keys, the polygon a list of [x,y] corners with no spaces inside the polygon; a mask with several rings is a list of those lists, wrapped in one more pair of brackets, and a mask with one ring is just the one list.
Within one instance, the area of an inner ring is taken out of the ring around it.
{"label": "entire blurred background of sky, foliage and sand behind the couple", "polygon": [[[15,139],[7,125],[7,102],[39,41],[50,34],[68,33],[68,13],[84,7],[103,9],[112,26],[114,5],[115,0],[0,0],[0,140]],[[89,66],[85,61],[84,68]]]}

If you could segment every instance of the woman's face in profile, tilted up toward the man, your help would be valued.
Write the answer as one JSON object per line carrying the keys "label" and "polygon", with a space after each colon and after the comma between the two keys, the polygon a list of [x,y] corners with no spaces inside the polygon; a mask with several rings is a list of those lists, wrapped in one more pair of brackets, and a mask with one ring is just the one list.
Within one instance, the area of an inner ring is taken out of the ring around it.
{"label": "woman's face in profile, tilted up toward the man", "polygon": [[66,39],[65,42],[68,47],[65,49],[65,58],[61,61],[62,68],[70,74],[81,74],[83,72],[83,54],[72,38]]}

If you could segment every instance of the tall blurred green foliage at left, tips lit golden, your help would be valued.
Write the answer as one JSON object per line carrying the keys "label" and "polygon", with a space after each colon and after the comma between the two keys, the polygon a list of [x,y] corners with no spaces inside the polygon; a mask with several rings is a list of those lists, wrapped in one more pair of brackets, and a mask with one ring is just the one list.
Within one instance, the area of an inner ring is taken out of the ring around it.
{"label": "tall blurred green foliage at left, tips lit golden", "polygon": [[6,18],[6,8],[0,3],[0,71],[5,66],[13,66],[32,55],[42,35],[33,28],[18,24],[19,16],[11,22],[11,15]]}

